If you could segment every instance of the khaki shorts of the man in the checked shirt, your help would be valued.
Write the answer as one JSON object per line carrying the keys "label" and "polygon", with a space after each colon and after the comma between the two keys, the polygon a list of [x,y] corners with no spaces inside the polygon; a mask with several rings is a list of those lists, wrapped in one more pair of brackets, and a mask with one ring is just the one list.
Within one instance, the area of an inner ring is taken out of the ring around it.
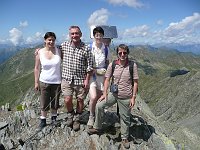
{"label": "khaki shorts of the man in the checked shirt", "polygon": [[73,96],[75,92],[75,97],[79,99],[85,99],[87,95],[87,90],[83,88],[83,85],[74,85],[72,82],[69,84],[66,80],[62,80],[61,89],[64,96]]}

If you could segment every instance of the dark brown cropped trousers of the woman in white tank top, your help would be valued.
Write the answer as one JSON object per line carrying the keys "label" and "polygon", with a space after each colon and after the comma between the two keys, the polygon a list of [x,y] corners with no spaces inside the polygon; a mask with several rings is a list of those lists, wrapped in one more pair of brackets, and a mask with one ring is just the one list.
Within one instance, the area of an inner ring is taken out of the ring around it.
{"label": "dark brown cropped trousers of the woman in white tank top", "polygon": [[61,93],[60,84],[48,84],[40,82],[40,107],[42,111],[51,109],[58,109],[59,97]]}

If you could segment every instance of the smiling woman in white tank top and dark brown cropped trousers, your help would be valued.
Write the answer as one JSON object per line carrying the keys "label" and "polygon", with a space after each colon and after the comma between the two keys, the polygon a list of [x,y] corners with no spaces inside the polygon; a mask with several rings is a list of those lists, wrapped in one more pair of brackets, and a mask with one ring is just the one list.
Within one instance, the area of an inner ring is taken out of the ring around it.
{"label": "smiling woman in white tank top and dark brown cropped trousers", "polygon": [[46,126],[47,111],[51,108],[51,123],[56,122],[59,96],[61,93],[61,51],[55,46],[56,35],[47,32],[44,48],[35,55],[35,90],[40,91],[41,122],[39,129]]}

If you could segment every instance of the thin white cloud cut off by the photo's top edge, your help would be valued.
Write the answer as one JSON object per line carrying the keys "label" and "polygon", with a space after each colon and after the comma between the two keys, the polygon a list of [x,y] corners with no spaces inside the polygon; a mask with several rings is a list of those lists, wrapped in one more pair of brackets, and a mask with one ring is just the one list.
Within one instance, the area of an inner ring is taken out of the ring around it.
{"label": "thin white cloud cut off by the photo's top edge", "polygon": [[108,2],[113,5],[125,5],[133,8],[141,8],[144,6],[139,0],[108,0]]}

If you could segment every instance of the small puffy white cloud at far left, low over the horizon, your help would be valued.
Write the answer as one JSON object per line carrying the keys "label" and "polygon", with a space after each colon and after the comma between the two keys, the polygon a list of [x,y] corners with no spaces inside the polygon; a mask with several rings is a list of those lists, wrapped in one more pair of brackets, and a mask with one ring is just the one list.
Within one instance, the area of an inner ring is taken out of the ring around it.
{"label": "small puffy white cloud at far left, low over the horizon", "polygon": [[19,45],[23,43],[23,34],[20,30],[18,30],[17,28],[13,28],[9,31],[9,36],[10,36],[10,41],[14,44],[14,45]]}

